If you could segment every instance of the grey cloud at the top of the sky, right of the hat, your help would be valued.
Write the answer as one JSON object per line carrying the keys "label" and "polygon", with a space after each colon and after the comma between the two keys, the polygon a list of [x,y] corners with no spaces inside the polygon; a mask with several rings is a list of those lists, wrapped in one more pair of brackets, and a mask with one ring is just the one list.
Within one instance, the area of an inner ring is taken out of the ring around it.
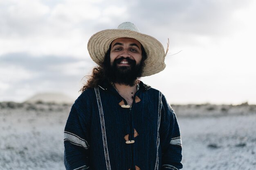
{"label": "grey cloud at the top of the sky, right of the hat", "polygon": [[139,16],[146,28],[154,24],[175,33],[218,36],[230,33],[231,26],[237,24],[233,13],[249,6],[250,2],[252,0],[138,1],[133,17]]}

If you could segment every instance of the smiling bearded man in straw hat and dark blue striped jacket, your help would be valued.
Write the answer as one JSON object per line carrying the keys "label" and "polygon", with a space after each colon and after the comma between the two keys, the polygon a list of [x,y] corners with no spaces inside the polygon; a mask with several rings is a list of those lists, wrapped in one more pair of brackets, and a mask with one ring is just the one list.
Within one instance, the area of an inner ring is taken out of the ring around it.
{"label": "smiling bearded man in straw hat and dark blue striped jacket", "polygon": [[182,143],[164,95],[139,81],[165,68],[162,44],[130,22],[88,41],[99,66],[64,131],[67,170],[179,170]]}

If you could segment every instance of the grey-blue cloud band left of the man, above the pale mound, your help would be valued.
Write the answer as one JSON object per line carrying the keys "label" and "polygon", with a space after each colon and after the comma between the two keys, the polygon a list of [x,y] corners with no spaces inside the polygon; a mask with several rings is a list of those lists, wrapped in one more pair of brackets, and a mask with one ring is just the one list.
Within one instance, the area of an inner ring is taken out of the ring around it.
{"label": "grey-blue cloud band left of the man, above the pale mound", "polygon": [[90,60],[72,57],[35,57],[27,53],[2,55],[0,100],[14,98],[22,101],[36,92],[61,92],[63,89],[74,96],[81,87],[81,78],[92,70],[92,65]]}

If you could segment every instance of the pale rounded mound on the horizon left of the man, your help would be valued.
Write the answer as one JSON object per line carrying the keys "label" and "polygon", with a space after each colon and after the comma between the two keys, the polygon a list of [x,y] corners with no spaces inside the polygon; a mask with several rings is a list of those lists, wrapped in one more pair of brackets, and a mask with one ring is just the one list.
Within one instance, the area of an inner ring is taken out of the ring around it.
{"label": "pale rounded mound on the horizon left of the man", "polygon": [[25,102],[73,103],[74,100],[62,93],[38,93],[27,99]]}

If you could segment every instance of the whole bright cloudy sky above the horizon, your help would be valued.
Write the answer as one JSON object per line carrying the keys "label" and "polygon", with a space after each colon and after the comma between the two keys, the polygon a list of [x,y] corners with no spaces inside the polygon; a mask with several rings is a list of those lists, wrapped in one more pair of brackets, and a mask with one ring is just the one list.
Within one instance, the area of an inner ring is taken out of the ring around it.
{"label": "whole bright cloudy sky above the horizon", "polygon": [[0,0],[0,101],[75,100],[96,66],[90,37],[129,21],[165,48],[169,38],[166,69],[141,81],[171,104],[256,104],[255,9],[255,0]]}

